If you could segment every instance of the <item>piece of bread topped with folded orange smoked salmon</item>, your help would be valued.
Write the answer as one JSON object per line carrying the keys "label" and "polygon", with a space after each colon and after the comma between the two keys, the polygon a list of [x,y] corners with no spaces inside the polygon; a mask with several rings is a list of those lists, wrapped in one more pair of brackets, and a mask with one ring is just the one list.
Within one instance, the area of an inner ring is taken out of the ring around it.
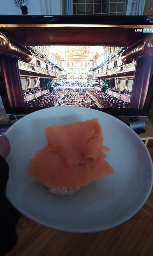
{"label": "piece of bread topped with folded orange smoked salmon", "polygon": [[73,194],[81,187],[113,173],[105,160],[98,119],[45,129],[48,144],[32,156],[29,175],[56,194]]}

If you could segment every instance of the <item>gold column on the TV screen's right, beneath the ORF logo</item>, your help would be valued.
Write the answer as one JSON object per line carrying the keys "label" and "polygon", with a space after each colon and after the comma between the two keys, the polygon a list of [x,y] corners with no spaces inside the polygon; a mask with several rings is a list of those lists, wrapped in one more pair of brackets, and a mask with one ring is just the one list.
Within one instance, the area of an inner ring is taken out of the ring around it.
{"label": "gold column on the TV screen's right, beneath the ORF logo", "polygon": [[130,108],[143,108],[153,74],[153,34],[146,37],[141,45],[125,50],[121,55],[124,64],[136,60]]}

